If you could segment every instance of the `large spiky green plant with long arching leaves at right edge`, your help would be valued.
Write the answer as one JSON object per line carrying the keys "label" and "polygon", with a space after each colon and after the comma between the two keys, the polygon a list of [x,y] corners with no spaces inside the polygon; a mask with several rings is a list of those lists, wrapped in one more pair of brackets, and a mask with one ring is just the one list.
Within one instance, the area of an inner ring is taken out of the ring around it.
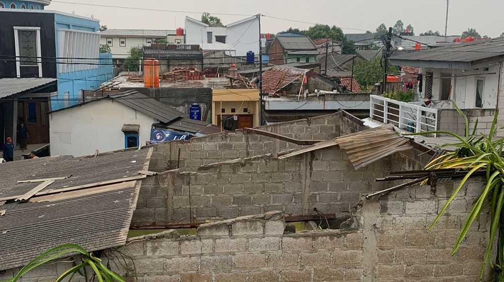
{"label": "large spiky green plant with long arching leaves at right edge", "polygon": [[[491,265],[497,272],[497,280],[503,282],[504,275],[502,268],[504,268],[504,161],[502,159],[502,148],[504,138],[495,138],[498,127],[497,116],[498,111],[495,111],[492,126],[488,134],[477,135],[478,121],[474,125],[473,130],[469,131],[469,120],[467,116],[455,105],[455,108],[465,119],[466,128],[465,136],[460,136],[449,131],[431,131],[422,133],[411,133],[408,135],[416,134],[446,134],[457,138],[460,142],[457,144],[447,144],[442,147],[456,147],[457,150],[447,152],[442,156],[432,160],[425,166],[426,170],[431,169],[462,169],[466,170],[467,174],[464,176],[460,184],[457,186],[452,196],[448,199],[446,204],[440,210],[434,222],[429,227],[430,231],[438,220],[443,216],[446,209],[452,200],[460,192],[461,188],[467,180],[476,171],[486,171],[486,185],[479,193],[479,196],[474,200],[471,213],[467,217],[464,226],[459,234],[455,247],[452,251],[454,255],[460,247],[462,241],[466,238],[471,225],[479,220],[482,213],[490,212],[490,240],[486,248],[483,265],[481,267],[480,278],[483,277],[486,264]],[[497,235],[498,234],[498,235]],[[491,258],[491,252],[495,237],[497,239],[497,257],[495,262]]]}

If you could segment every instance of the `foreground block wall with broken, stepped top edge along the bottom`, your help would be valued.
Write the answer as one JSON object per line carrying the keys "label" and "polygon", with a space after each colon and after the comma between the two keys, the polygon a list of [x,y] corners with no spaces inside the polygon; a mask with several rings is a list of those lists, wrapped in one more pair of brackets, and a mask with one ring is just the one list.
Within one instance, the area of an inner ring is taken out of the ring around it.
{"label": "foreground block wall with broken, stepped top edge along the bottom", "polygon": [[[482,182],[468,183],[446,216],[425,232],[456,184],[438,185],[435,194],[430,186],[415,186],[361,202],[352,230],[285,235],[281,213],[272,212],[202,225],[198,236],[167,231],[130,238],[119,250],[130,257],[130,267],[133,260],[144,282],[478,281],[488,240],[487,215],[479,229],[471,229],[460,250],[450,253]],[[53,280],[55,273],[69,267],[70,263],[46,264],[24,280]],[[1,273],[0,279],[17,270]],[[485,273],[483,281],[490,277]],[[131,274],[127,278],[135,280]]]}

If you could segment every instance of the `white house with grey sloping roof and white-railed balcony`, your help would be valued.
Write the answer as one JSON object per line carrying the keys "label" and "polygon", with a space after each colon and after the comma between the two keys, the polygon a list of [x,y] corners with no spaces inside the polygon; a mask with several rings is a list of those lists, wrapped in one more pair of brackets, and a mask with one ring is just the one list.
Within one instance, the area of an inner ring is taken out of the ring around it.
{"label": "white house with grey sloping roof and white-railed balcony", "polygon": [[455,103],[467,116],[471,131],[478,120],[477,132],[488,133],[495,110],[499,110],[497,124],[504,123],[503,58],[502,38],[391,57],[393,65],[418,67],[421,86],[412,103],[372,95],[370,115],[408,131],[450,130],[465,134],[465,122]]}

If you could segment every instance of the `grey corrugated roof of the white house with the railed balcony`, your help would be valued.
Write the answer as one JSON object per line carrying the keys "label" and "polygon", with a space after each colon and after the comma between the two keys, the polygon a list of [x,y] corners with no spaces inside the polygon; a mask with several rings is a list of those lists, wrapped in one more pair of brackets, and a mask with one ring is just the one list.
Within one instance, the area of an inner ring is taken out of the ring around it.
{"label": "grey corrugated roof of the white house with the railed balcony", "polygon": [[498,56],[504,56],[503,38],[451,44],[446,47],[394,56],[390,60],[391,62],[393,60],[472,62]]}

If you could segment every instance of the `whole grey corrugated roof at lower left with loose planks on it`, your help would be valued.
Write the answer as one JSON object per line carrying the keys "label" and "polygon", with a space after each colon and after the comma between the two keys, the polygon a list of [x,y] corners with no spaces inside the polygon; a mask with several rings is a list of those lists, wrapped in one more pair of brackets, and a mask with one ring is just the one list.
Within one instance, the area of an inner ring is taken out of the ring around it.
{"label": "whole grey corrugated roof at lower left with loose planks on it", "polygon": [[[148,166],[151,150],[0,164],[0,210],[5,210],[0,216],[0,270],[23,266],[61,244],[79,244],[88,251],[123,245],[138,199],[139,171]],[[27,201],[12,199],[41,183],[18,181],[68,176]],[[125,182],[127,177],[137,179]],[[103,181],[115,184],[98,183]],[[51,192],[61,188],[74,190]]]}

